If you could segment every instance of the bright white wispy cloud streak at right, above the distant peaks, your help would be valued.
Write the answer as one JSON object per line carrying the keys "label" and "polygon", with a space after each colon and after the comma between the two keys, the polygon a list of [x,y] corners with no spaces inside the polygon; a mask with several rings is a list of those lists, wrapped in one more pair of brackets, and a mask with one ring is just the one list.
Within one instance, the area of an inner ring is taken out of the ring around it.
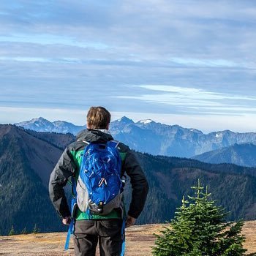
{"label": "bright white wispy cloud streak at right, above the distant peaks", "polygon": [[140,85],[138,87],[156,91],[156,93],[121,96],[120,98],[171,105],[176,107],[176,113],[203,113],[217,116],[241,116],[246,115],[246,113],[256,113],[256,97],[223,94],[216,91],[179,86]]}

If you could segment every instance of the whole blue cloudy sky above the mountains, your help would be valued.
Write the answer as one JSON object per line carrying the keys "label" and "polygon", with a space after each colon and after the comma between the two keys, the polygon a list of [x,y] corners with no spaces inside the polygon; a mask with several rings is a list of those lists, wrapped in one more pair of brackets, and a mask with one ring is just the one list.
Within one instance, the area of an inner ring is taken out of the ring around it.
{"label": "whole blue cloudy sky above the mountains", "polygon": [[256,1],[0,1],[0,124],[151,118],[256,132]]}

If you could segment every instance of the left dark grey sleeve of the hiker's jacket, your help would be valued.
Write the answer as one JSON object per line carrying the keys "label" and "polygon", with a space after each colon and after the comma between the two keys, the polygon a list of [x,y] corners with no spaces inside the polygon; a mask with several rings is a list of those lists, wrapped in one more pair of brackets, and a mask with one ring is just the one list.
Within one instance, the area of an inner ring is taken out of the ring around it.
{"label": "left dark grey sleeve of the hiker's jacket", "polygon": [[49,181],[50,200],[62,218],[70,216],[64,187],[67,184],[68,178],[73,175],[74,171],[75,163],[66,148],[57,162],[56,167],[54,167],[53,172],[50,174]]}

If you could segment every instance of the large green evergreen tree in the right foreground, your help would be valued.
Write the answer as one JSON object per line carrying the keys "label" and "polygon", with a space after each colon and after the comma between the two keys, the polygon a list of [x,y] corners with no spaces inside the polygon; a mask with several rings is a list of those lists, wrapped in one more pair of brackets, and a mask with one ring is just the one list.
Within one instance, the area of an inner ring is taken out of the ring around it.
{"label": "large green evergreen tree in the right foreground", "polygon": [[227,222],[227,213],[210,200],[208,189],[198,180],[195,196],[183,197],[170,226],[160,231],[153,247],[156,256],[241,256],[246,249],[242,243],[244,222]]}

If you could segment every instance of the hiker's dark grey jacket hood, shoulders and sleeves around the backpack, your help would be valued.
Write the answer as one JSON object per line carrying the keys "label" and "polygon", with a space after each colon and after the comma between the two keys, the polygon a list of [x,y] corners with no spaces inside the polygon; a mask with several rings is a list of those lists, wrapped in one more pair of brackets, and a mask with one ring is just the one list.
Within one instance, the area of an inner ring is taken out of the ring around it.
{"label": "hiker's dark grey jacket hood, shoulders and sleeves around the backpack", "polygon": [[[67,146],[64,150],[59,162],[50,175],[49,182],[50,200],[53,202],[56,211],[58,211],[63,218],[70,216],[69,206],[64,193],[64,186],[67,184],[68,178],[75,176],[80,170],[77,159],[78,152],[83,151],[87,146],[83,140],[105,143],[108,140],[113,140],[113,137],[110,134],[99,130],[85,129],[78,134],[78,140]],[[144,175],[135,154],[129,147],[123,143],[119,143],[118,151],[124,156],[121,176],[127,173],[132,184],[132,201],[129,206],[128,215],[137,219],[146,202],[148,182],[146,181],[146,176]]]}

